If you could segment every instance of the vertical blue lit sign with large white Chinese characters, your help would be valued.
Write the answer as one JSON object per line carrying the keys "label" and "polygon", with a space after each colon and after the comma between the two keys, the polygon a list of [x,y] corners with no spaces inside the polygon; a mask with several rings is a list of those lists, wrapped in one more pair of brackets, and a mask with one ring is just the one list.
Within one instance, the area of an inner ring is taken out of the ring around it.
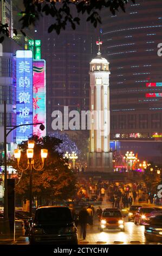
{"label": "vertical blue lit sign with large white Chinese characters", "polygon": [[16,143],[27,141],[33,135],[33,53],[16,52]]}

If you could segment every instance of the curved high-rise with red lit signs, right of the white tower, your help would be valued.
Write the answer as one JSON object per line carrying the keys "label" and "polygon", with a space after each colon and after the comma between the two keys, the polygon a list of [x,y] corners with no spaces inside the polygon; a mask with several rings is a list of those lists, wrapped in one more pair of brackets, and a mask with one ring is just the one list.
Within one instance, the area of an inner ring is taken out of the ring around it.
{"label": "curved high-rise with red lit signs, right of the white tower", "polygon": [[102,51],[111,63],[111,139],[162,138],[160,0],[139,0],[126,13],[102,12]]}

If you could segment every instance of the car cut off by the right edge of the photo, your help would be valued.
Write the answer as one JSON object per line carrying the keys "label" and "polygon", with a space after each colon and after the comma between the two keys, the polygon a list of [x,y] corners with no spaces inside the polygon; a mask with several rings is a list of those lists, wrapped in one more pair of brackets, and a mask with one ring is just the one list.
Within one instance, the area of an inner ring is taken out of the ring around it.
{"label": "car cut off by the right edge of the photo", "polygon": [[152,216],[147,221],[145,237],[149,242],[162,242],[162,214]]}

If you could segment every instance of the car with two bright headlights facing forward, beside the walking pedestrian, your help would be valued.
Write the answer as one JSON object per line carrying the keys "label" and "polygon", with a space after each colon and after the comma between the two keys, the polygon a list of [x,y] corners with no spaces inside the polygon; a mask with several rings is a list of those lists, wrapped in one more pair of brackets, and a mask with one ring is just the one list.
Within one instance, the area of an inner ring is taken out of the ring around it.
{"label": "car with two bright headlights facing forward, beside the walking pedestrian", "polygon": [[125,231],[124,218],[119,209],[107,208],[103,210],[100,220],[100,231],[105,229],[120,229]]}

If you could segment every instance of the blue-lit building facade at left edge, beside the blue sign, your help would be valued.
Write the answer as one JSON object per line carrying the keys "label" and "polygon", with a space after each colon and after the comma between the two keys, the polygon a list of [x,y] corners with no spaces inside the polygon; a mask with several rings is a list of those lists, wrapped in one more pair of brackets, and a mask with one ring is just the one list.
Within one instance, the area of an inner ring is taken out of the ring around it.
{"label": "blue-lit building facade at left edge, beside the blue sign", "polygon": [[[5,36],[0,56],[0,153],[4,151],[4,101],[7,103],[7,125],[16,125],[16,51],[20,47]],[[7,137],[8,154],[16,142],[15,131]]]}

